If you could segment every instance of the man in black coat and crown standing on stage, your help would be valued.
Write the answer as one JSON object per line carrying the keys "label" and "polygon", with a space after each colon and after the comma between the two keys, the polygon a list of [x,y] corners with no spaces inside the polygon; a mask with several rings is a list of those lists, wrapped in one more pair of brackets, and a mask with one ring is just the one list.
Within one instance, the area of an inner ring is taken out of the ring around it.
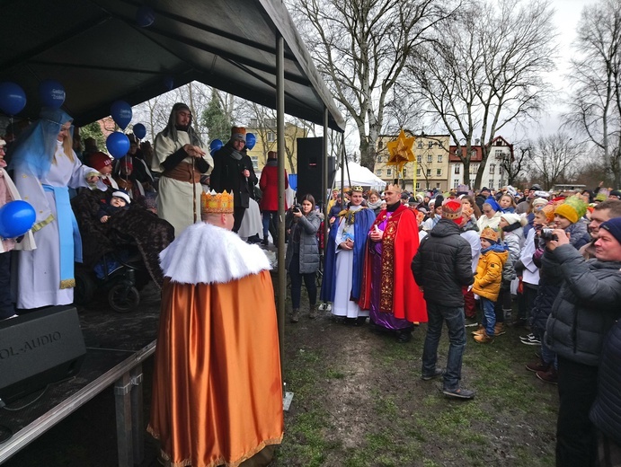
{"label": "man in black coat and crown standing on stage", "polygon": [[214,153],[214,171],[209,178],[209,186],[212,189],[233,193],[235,234],[239,231],[246,209],[250,206],[250,198],[254,198],[254,185],[257,183],[253,161],[246,154],[245,145],[246,129],[231,128],[231,139]]}

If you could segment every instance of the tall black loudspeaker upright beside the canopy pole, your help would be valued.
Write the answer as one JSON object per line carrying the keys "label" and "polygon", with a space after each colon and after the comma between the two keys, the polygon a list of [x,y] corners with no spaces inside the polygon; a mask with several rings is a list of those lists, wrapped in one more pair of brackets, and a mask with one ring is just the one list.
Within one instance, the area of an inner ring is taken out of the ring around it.
{"label": "tall black loudspeaker upright beside the canopy pole", "polygon": [[[328,157],[328,188],[333,186],[336,160]],[[310,193],[319,206],[327,198],[322,187],[324,173],[324,137],[297,138],[297,199]]]}

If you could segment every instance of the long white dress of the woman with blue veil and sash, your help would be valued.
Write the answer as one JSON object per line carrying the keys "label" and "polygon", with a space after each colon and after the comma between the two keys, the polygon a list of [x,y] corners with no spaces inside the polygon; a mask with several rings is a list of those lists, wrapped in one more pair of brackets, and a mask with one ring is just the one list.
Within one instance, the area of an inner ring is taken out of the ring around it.
{"label": "long white dress of the woman with blue veil and sash", "polygon": [[[58,141],[56,162],[51,164],[42,180],[31,173],[21,172],[19,168],[15,169],[15,186],[22,199],[34,207],[37,215],[32,226],[37,249],[17,254],[17,281],[13,290],[18,308],[72,304],[74,301],[73,262],[66,264],[66,274],[61,275],[61,240],[66,248],[74,249],[73,259],[77,262],[82,262],[82,245],[70,208],[68,216],[62,221],[63,225],[58,225],[57,196],[68,201],[68,188],[88,187],[86,178],[99,172],[83,165],[75,153],[73,155],[72,162]],[[99,181],[98,188],[106,189],[106,186]],[[60,235],[59,228],[70,234]]]}

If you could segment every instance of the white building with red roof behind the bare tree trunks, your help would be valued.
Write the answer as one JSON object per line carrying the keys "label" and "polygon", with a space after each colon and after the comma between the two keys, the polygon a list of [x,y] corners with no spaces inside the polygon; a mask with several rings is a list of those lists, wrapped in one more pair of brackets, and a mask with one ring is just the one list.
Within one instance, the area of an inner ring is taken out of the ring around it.
{"label": "white building with red roof behind the bare tree trunks", "polygon": [[[470,184],[474,184],[476,172],[478,172],[483,160],[483,148],[481,145],[473,145],[470,147],[472,155],[470,157]],[[466,157],[466,147],[462,147],[462,154]],[[502,161],[513,160],[513,145],[510,145],[503,137],[495,137],[485,164],[485,172],[481,179],[482,186],[490,189],[499,189],[507,184],[507,174],[502,169]],[[461,162],[457,154],[457,145],[448,147],[448,171],[449,186],[457,188],[464,182],[464,164]],[[482,187],[470,187],[479,189]]]}

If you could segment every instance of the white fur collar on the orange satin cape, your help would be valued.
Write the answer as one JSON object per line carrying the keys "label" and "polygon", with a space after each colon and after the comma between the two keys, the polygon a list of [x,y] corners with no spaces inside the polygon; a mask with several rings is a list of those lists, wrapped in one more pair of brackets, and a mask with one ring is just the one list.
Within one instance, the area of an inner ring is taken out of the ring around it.
{"label": "white fur collar on the orange satin cape", "polygon": [[271,269],[258,245],[203,222],[186,228],[160,253],[164,277],[181,284],[225,283]]}

